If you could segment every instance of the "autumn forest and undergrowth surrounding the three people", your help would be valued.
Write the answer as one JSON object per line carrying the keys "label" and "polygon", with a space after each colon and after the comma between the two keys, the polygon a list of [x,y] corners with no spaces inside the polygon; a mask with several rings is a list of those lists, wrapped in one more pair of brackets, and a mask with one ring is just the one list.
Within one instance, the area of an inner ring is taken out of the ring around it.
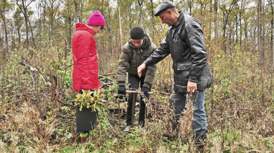
{"label": "autumn forest and undergrowth surrounding the three people", "polygon": [[[191,110],[175,140],[166,108],[172,91],[172,59],[158,64],[147,131],[124,133],[115,75],[130,29],[142,26],[159,46],[167,29],[154,17],[160,0],[1,0],[1,152],[192,152]],[[212,74],[205,109],[209,135],[204,152],[273,152],[272,0],[173,1],[202,25]],[[71,39],[76,23],[99,11],[105,29],[95,36],[106,100],[90,140],[80,143],[75,124]],[[106,80],[112,80],[105,83]],[[190,103],[191,105],[191,103]],[[153,106],[157,106],[153,107]],[[138,117],[138,115],[136,115]]]}

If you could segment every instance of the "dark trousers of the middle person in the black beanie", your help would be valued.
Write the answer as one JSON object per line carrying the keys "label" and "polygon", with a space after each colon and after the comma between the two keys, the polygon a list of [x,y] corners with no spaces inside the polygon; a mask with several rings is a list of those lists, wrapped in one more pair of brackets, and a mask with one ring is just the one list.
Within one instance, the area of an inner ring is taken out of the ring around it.
{"label": "dark trousers of the middle person in the black beanie", "polygon": [[[128,74],[129,90],[138,90],[139,84],[141,85],[141,89],[142,89],[142,87],[144,85],[144,80],[145,80],[145,76],[141,76],[141,78],[139,78],[138,75]],[[151,86],[149,88],[149,91],[151,91]],[[135,102],[136,102],[137,95],[138,94],[135,94]],[[138,124],[141,126],[145,126],[146,104],[143,101],[142,96],[140,99],[141,99],[141,103],[140,103]],[[128,95],[127,102],[128,102],[128,107],[126,110],[126,125],[131,125],[133,94]],[[134,106],[134,110],[135,110],[135,106]]]}

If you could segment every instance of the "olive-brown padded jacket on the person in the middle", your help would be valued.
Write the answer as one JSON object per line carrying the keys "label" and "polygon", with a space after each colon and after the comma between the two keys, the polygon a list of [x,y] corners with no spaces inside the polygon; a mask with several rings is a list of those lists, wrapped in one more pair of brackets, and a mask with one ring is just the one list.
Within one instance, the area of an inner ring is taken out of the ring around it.
{"label": "olive-brown padded jacket on the person in the middle", "polygon": [[[157,49],[156,45],[152,42],[150,36],[146,34],[142,46],[138,49],[129,39],[122,47],[122,54],[118,64],[117,82],[118,85],[125,85],[126,72],[132,75],[138,75],[137,68]],[[146,76],[144,80],[145,87],[150,88],[152,81],[155,77],[157,65],[152,64],[142,72],[142,76]]]}

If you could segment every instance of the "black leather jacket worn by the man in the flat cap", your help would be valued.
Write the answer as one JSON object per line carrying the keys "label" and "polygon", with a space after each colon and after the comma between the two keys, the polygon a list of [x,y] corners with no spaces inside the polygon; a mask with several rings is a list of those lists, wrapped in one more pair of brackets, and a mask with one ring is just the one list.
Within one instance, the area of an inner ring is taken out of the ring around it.
{"label": "black leather jacket worn by the man in the flat cap", "polygon": [[169,28],[160,48],[156,49],[144,63],[148,67],[171,54],[174,91],[187,92],[188,81],[197,83],[197,90],[202,91],[211,86],[203,31],[195,18],[183,11],[179,13],[178,21]]}

